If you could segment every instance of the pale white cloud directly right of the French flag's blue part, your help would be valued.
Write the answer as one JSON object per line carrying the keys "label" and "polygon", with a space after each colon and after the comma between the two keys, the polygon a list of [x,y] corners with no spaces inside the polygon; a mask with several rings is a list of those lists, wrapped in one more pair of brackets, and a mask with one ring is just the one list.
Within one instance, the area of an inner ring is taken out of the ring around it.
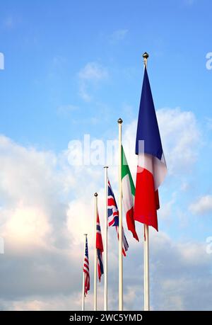
{"label": "pale white cloud directly right of the French flag's blue part", "polygon": [[180,108],[157,110],[168,172],[187,173],[196,162],[201,133],[194,113]]}

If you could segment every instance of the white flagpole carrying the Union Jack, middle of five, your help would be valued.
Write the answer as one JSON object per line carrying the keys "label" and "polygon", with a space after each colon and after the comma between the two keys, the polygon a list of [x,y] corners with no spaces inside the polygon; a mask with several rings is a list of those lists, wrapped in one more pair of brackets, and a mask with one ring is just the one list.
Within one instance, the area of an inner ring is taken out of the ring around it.
{"label": "white flagpole carrying the Union Jack, middle of five", "polygon": [[104,310],[107,311],[107,169],[108,166],[104,167],[105,169],[105,266],[104,266]]}

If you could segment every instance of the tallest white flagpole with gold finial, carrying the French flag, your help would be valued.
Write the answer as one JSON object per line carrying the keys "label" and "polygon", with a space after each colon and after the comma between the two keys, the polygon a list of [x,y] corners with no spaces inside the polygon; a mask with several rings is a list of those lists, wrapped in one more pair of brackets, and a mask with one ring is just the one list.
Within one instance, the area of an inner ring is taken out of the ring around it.
{"label": "tallest white flagpole with gold finial, carrying the French flag", "polygon": [[[143,53],[144,67],[147,69],[148,53]],[[145,145],[145,144],[144,144]],[[148,224],[143,225],[144,230],[144,247],[143,247],[143,291],[144,291],[144,310],[150,310],[149,304],[149,237],[148,237]]]}

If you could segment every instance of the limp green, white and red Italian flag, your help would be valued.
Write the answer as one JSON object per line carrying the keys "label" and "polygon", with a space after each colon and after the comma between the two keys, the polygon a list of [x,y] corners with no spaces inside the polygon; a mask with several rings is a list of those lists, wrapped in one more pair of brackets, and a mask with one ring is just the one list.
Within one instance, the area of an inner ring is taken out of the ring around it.
{"label": "limp green, white and red Italian flag", "polygon": [[131,177],[129,166],[126,161],[124,148],[122,147],[122,200],[124,205],[124,212],[126,213],[126,224],[128,229],[133,234],[134,238],[139,241],[134,220],[134,197],[134,181]]}

